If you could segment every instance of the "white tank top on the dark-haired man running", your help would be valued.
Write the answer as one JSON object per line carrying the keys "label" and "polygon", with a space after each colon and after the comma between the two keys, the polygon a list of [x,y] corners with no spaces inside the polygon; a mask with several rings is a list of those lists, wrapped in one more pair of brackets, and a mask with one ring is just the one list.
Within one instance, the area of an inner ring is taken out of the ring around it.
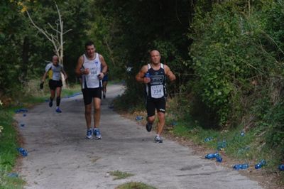
{"label": "white tank top on the dark-haired man running", "polygon": [[83,55],[84,69],[89,69],[88,75],[82,75],[82,89],[102,87],[102,80],[99,80],[99,73],[101,72],[102,63],[99,60],[99,53],[96,53],[96,58],[89,60],[86,55]]}

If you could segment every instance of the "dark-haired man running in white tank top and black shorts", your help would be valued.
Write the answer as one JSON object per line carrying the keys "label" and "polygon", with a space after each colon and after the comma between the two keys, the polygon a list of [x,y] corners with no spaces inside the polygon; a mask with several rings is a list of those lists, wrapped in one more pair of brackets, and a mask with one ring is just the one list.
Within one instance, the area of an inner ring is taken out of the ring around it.
{"label": "dark-haired man running in white tank top and black shorts", "polygon": [[[107,63],[102,55],[96,53],[94,43],[85,44],[86,52],[81,55],[76,67],[76,74],[82,78],[82,93],[84,97],[84,116],[87,123],[87,139],[102,139],[98,129],[101,117],[102,78],[107,73]],[[92,129],[92,102],[94,105],[94,129]]]}

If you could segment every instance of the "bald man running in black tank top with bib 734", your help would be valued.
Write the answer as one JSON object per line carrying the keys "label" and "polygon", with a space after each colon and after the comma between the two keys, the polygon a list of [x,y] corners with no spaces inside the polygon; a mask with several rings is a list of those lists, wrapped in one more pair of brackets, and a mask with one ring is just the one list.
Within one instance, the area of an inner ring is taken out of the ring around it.
{"label": "bald man running in black tank top with bib 734", "polygon": [[160,63],[160,53],[158,50],[152,50],[150,55],[151,63],[143,65],[136,75],[136,80],[146,84],[146,109],[148,114],[146,129],[149,132],[151,131],[152,124],[155,121],[155,109],[157,109],[158,128],[154,140],[156,143],[162,143],[163,139],[160,134],[165,125],[165,76],[170,81],[173,81],[175,80],[175,75],[168,65]]}

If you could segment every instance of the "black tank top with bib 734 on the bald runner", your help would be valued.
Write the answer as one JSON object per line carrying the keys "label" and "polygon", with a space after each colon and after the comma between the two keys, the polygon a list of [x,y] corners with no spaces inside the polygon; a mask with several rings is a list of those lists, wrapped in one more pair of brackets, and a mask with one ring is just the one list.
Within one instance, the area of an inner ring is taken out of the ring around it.
{"label": "black tank top with bib 734 on the bald runner", "polygon": [[160,64],[160,69],[154,70],[148,64],[148,73],[150,74],[151,82],[146,84],[145,87],[147,97],[154,99],[166,97],[164,65]]}

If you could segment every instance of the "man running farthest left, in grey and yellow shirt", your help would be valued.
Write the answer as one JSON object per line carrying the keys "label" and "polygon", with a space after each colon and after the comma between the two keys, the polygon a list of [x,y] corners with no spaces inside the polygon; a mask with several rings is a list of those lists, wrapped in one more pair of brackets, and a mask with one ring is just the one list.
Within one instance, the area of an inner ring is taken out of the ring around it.
{"label": "man running farthest left, in grey and yellow shirt", "polygon": [[55,90],[56,90],[56,109],[55,111],[58,113],[61,113],[61,109],[59,108],[60,105],[60,95],[62,90],[62,80],[61,80],[61,72],[63,73],[65,80],[67,79],[67,74],[63,70],[63,67],[58,64],[58,56],[53,55],[53,62],[48,63],[48,65],[45,66],[45,73],[43,75],[43,80],[40,83],[40,89],[43,89],[43,83],[45,82],[45,78],[48,75],[49,82],[48,85],[50,87],[50,101],[49,101],[49,107],[53,106],[53,99],[55,98]]}

